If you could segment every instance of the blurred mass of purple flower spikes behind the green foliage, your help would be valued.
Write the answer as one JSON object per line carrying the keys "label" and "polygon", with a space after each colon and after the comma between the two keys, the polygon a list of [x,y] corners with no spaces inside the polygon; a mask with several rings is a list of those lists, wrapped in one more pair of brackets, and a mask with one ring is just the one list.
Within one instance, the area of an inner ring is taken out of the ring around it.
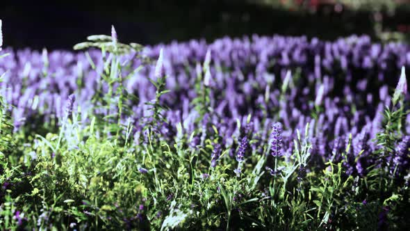
{"label": "blurred mass of purple flower spikes behind the green foliage", "polygon": [[[41,53],[10,48],[3,52],[10,55],[0,63],[0,72],[8,71],[0,83],[0,92],[14,106],[10,110],[15,127],[59,120],[78,106],[81,106],[80,120],[83,121],[90,120],[87,113],[90,110],[105,115],[117,110],[96,107],[90,101],[93,95],[108,92],[102,77],[108,54],[103,57],[100,51],[90,50],[88,57],[82,52]],[[389,89],[397,85],[400,68],[410,68],[408,45],[382,45],[371,42],[367,36],[351,36],[334,42],[279,35],[221,38],[210,44],[191,40],[145,47],[142,55],[158,62],[133,72],[142,61],[131,59],[134,54],[120,57],[120,63],[129,65],[122,74],[131,74],[124,78],[123,86],[138,98],[124,102],[133,113],[136,144],[144,142],[142,129],[146,121],[140,118],[151,116],[146,103],[156,94],[156,88],[147,77],[155,80],[166,75],[165,88],[170,93],[160,99],[169,109],[163,113],[170,125],[167,132],[163,132],[165,138],[173,140],[176,134],[172,132],[173,125],[179,122],[186,134],[201,127],[202,134],[194,136],[190,144],[197,147],[211,134],[208,125],[212,124],[223,134],[221,148],[238,148],[236,159],[243,161],[247,149],[262,152],[261,147],[270,142],[273,132],[276,138],[271,141],[272,155],[279,157],[291,152],[296,131],[304,131],[309,122],[313,161],[323,164],[329,159],[345,158],[348,172],[357,174],[365,174],[366,167],[374,164],[371,153],[377,147],[372,140],[379,132],[384,106],[391,104]],[[195,81],[202,72],[200,63],[206,63],[209,72],[209,105],[213,108],[202,120],[192,105],[198,96]],[[405,95],[407,100],[409,97]],[[241,134],[237,121],[247,124],[248,115],[252,115],[252,124]],[[128,118],[123,119],[125,123]],[[279,121],[281,126],[275,124],[272,131],[270,126],[274,121]],[[404,128],[409,134],[409,122]],[[343,156],[350,134],[352,148]],[[249,148],[251,138],[254,142]],[[403,138],[402,142],[407,140]],[[409,163],[409,155],[400,154],[408,151],[406,145],[401,143],[399,146],[404,149],[397,150],[395,156],[399,169]],[[213,153],[212,165],[216,165],[218,153]],[[233,155],[231,150],[229,156]]]}

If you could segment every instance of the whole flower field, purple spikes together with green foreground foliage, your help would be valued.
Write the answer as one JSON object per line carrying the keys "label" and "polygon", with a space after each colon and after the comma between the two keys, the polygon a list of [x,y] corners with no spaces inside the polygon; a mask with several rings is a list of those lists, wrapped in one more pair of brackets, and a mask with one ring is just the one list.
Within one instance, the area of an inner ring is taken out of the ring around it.
{"label": "whole flower field, purple spikes together with green foreground foliage", "polygon": [[409,228],[407,45],[74,50],[0,51],[1,230]]}

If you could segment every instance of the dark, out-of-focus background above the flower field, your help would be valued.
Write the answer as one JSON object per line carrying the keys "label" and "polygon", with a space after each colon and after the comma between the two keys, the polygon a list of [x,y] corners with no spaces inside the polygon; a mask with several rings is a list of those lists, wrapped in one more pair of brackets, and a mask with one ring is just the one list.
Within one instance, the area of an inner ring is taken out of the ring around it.
{"label": "dark, out-of-focus background above the flower field", "polygon": [[334,40],[367,34],[409,41],[410,0],[134,0],[0,3],[4,43],[72,49],[87,35],[117,29],[122,42],[153,45],[225,35],[306,35]]}

